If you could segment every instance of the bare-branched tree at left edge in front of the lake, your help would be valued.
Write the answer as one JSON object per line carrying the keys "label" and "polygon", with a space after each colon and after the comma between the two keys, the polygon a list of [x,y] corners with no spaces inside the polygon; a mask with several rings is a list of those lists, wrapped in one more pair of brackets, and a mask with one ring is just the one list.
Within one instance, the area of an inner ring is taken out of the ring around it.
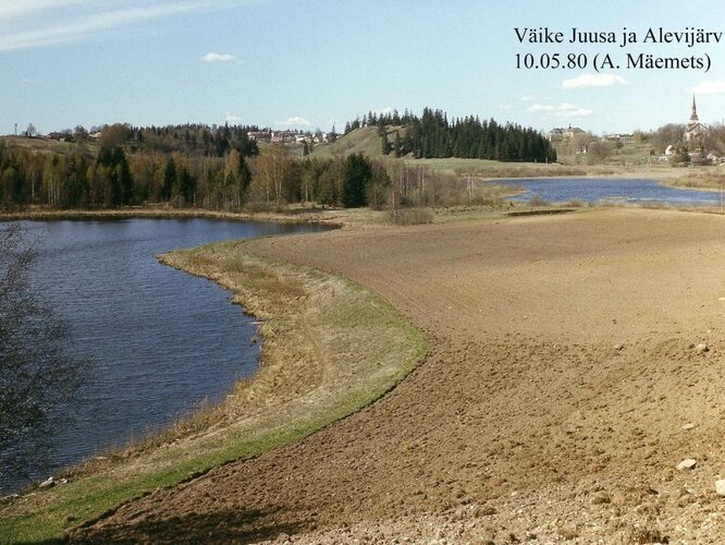
{"label": "bare-branched tree at left edge in front of the lake", "polygon": [[88,362],[67,354],[63,322],[30,286],[36,258],[21,225],[0,226],[0,482],[45,461],[87,374]]}

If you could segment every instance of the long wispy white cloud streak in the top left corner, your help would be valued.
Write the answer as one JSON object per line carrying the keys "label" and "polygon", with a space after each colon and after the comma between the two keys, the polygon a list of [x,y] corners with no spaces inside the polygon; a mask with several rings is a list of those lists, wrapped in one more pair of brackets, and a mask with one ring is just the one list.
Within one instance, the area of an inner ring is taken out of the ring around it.
{"label": "long wispy white cloud streak in the top left corner", "polygon": [[51,46],[184,13],[265,0],[0,0],[0,51]]}

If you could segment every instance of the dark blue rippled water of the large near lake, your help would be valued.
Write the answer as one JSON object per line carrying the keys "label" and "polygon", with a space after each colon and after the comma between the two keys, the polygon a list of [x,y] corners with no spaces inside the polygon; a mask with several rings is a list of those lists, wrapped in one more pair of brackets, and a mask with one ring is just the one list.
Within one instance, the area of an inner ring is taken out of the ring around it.
{"label": "dark blue rippled water of the large near lake", "polygon": [[[56,470],[219,401],[256,371],[253,318],[229,292],[160,265],[158,254],[324,229],[210,219],[24,223],[38,240],[38,293],[70,326],[71,351],[94,361],[79,416],[54,439]],[[0,492],[24,484],[0,475]]]}

